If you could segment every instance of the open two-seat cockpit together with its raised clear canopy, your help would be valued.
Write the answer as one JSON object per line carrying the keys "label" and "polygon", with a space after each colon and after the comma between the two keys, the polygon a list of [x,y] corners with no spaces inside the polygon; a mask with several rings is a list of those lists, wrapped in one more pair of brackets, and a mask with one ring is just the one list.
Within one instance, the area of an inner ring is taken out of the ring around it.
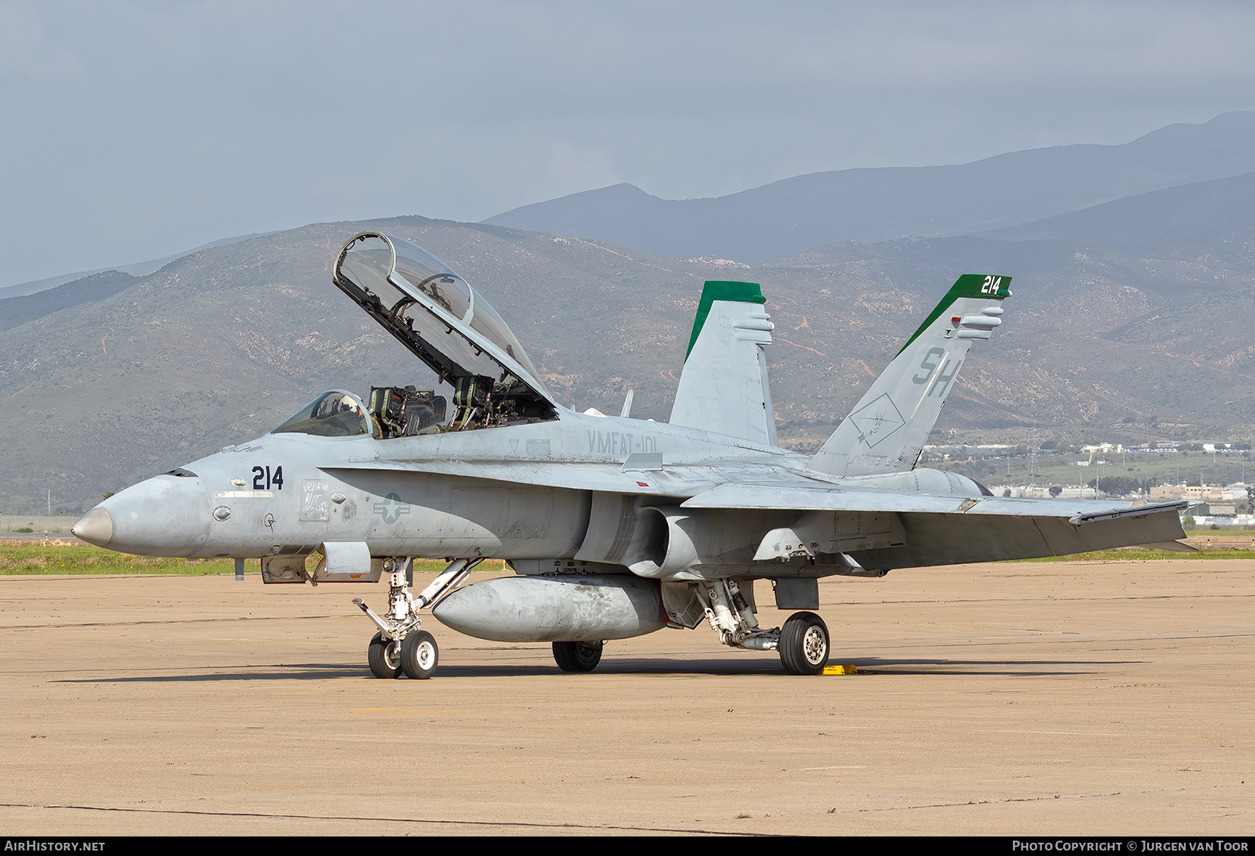
{"label": "open two-seat cockpit together with its raised clear canopy", "polygon": [[[418,245],[361,232],[344,245],[333,280],[418,356],[437,384],[452,388],[448,395],[419,385],[373,388],[364,408],[368,422],[374,422],[368,433],[410,437],[557,418],[540,373],[497,311]],[[301,413],[284,425],[312,424],[300,418]]]}

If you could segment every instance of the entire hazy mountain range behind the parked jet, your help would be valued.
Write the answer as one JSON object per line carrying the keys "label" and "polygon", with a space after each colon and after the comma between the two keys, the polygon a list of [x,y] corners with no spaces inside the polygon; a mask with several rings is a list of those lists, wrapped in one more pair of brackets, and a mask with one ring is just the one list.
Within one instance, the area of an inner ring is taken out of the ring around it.
{"label": "entire hazy mountain range behind the parked jet", "polygon": [[[324,389],[429,384],[330,282],[339,247],[366,230],[459,270],[579,409],[617,413],[633,388],[634,415],[665,419],[702,282],[749,280],[776,323],[781,436],[812,448],[959,274],[993,272],[1014,277],[1007,323],[974,349],[941,436],[1249,438],[1251,172],[1255,114],[1225,114],[1127,146],[820,173],[690,201],[704,208],[617,186],[520,210],[634,228],[648,206],[671,212],[614,242],[574,221],[566,233],[538,218],[498,222],[517,212],[486,223],[413,216],[235,240],[142,275],[95,272],[0,299],[0,511],[44,507],[49,490],[54,507],[90,507],[105,490],[269,431]],[[896,207],[876,198],[894,187]],[[641,197],[638,208],[601,205]],[[774,222],[747,203],[756,198],[794,216]],[[821,203],[827,213],[796,213]],[[836,216],[842,207],[872,213],[860,223]],[[665,235],[681,210],[684,228]],[[671,255],[651,250],[655,238]]]}

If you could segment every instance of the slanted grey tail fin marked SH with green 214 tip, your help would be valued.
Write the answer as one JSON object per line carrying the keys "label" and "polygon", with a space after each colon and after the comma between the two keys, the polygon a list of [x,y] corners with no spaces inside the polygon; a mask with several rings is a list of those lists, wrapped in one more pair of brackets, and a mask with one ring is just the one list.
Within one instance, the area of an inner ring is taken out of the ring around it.
{"label": "slanted grey tail fin marked SH with green 214 tip", "polygon": [[1012,277],[964,274],[811,459],[827,476],[912,469],[976,339],[1001,324]]}

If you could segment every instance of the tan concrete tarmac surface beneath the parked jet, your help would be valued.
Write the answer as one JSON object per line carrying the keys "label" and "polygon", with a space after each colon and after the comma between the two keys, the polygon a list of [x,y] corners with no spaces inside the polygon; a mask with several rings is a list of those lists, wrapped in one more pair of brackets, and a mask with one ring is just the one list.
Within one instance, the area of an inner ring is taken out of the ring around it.
{"label": "tan concrete tarmac surface beneath the parked jet", "polygon": [[[252,570],[250,567],[250,570]],[[0,577],[0,828],[113,835],[1255,832],[1255,560],[821,581],[832,664],[705,626],[545,644],[424,621],[376,680],[387,586]],[[759,620],[779,624],[771,586]]]}

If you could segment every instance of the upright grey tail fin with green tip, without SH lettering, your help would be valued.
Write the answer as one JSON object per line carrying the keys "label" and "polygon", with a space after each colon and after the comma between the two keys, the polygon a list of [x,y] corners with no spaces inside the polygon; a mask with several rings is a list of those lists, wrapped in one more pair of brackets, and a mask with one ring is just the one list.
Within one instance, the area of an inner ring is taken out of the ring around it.
{"label": "upright grey tail fin with green tip, without SH lettering", "polygon": [[776,446],[766,345],[773,325],[756,282],[707,282],[693,320],[671,424]]}

